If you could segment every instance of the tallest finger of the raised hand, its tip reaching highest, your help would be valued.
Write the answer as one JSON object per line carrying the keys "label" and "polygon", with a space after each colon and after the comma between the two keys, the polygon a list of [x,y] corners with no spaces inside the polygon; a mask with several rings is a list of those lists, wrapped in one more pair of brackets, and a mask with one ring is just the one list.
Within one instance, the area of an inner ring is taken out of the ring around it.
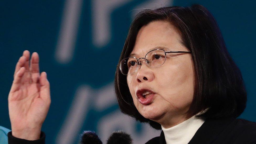
{"label": "tallest finger of the raised hand, its tip reaching highest", "polygon": [[31,74],[29,71],[29,58],[30,58],[30,52],[28,50],[25,50],[23,52],[23,56],[26,57],[26,61],[24,64],[25,67],[25,73],[24,73],[24,78],[23,78],[23,82],[24,83],[30,83],[31,82]]}

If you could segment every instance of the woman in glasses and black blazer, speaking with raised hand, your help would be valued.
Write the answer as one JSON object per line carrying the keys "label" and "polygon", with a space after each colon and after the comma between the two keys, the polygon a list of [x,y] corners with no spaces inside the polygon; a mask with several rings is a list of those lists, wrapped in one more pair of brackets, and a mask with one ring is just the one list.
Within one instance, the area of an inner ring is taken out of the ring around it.
{"label": "woman in glasses and black blazer, speaking with raised hand", "polygon": [[[39,74],[38,54],[31,57],[29,66],[24,51],[15,69],[9,143],[44,143],[50,86],[46,73]],[[124,114],[162,129],[147,143],[256,142],[255,122],[236,119],[247,100],[241,72],[203,6],[138,13],[120,56],[115,90]]]}

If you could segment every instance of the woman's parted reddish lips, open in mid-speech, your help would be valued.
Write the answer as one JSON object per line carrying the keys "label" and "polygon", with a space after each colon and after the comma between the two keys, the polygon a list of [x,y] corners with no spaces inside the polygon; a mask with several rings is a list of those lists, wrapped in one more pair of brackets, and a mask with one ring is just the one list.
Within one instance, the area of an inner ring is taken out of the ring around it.
{"label": "woman's parted reddish lips, open in mid-speech", "polygon": [[155,94],[156,93],[150,89],[139,89],[136,92],[138,101],[143,105],[151,104]]}

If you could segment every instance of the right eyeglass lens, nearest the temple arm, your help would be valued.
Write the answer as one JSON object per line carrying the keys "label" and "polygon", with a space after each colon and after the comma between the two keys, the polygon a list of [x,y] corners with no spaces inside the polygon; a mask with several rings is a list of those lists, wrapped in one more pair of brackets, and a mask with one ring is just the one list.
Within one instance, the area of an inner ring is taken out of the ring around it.
{"label": "right eyeglass lens, nearest the temple arm", "polygon": [[146,63],[150,67],[159,67],[163,65],[166,60],[164,50],[153,50],[146,55]]}

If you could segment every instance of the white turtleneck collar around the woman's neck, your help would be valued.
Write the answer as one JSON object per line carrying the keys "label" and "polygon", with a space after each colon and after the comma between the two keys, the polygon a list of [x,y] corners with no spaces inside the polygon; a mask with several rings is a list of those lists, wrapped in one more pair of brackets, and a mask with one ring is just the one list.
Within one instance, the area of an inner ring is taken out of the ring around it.
{"label": "white turtleneck collar around the woman's neck", "polygon": [[195,115],[183,121],[182,123],[165,129],[163,126],[165,141],[167,144],[188,143],[195,135],[199,127],[205,122],[202,118],[196,118]]}

